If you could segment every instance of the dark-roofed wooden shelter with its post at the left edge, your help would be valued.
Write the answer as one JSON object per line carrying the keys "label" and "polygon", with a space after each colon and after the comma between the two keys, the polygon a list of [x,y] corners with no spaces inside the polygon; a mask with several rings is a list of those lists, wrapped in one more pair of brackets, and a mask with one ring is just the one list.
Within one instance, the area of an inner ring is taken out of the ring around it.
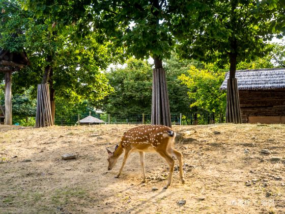
{"label": "dark-roofed wooden shelter with its post at the left edge", "polygon": [[10,52],[0,48],[0,72],[5,72],[5,124],[12,124],[12,72],[29,64],[24,51]]}

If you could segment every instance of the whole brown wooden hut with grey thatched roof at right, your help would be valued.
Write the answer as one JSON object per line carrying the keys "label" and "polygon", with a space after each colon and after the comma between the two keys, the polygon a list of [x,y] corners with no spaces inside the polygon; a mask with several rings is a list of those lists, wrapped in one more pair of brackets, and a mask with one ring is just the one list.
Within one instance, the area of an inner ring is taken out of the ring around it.
{"label": "whole brown wooden hut with grey thatched roof at right", "polygon": [[243,123],[285,123],[285,68],[237,70],[236,78]]}

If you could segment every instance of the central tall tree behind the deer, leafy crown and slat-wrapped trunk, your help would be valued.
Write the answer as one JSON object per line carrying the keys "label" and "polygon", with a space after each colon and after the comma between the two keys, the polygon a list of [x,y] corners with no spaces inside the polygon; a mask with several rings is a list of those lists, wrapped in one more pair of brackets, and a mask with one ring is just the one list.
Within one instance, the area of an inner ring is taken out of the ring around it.
{"label": "central tall tree behind the deer, leafy crown and slat-wrapped trunk", "polygon": [[[25,3],[25,1],[22,1]],[[52,19],[58,32],[68,25],[82,37],[90,31],[97,40],[110,40],[124,47],[127,55],[154,59],[152,123],[170,124],[170,110],[162,60],[170,57],[175,40],[169,31],[173,1],[35,1],[24,4],[36,10],[39,16]]]}

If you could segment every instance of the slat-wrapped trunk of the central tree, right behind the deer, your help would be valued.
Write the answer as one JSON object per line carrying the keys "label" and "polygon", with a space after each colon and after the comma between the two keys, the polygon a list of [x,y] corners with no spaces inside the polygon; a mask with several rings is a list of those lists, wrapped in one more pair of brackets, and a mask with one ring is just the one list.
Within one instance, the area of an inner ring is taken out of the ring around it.
{"label": "slat-wrapped trunk of the central tree, right behind the deer", "polygon": [[171,117],[167,92],[165,71],[162,60],[154,57],[153,84],[152,84],[152,124],[171,127]]}

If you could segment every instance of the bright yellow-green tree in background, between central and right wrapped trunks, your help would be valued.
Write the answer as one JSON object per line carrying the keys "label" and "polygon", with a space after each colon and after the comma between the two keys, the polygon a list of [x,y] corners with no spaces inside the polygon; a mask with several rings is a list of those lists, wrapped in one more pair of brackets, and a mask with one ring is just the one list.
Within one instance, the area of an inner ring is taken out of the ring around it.
{"label": "bright yellow-green tree in background, between central and right wrapped trunks", "polygon": [[205,69],[190,66],[188,76],[182,74],[179,79],[189,89],[188,95],[194,102],[191,108],[198,108],[207,112],[220,113],[225,110],[226,93],[219,88],[224,80],[223,71],[214,71],[214,65],[205,65]]}

